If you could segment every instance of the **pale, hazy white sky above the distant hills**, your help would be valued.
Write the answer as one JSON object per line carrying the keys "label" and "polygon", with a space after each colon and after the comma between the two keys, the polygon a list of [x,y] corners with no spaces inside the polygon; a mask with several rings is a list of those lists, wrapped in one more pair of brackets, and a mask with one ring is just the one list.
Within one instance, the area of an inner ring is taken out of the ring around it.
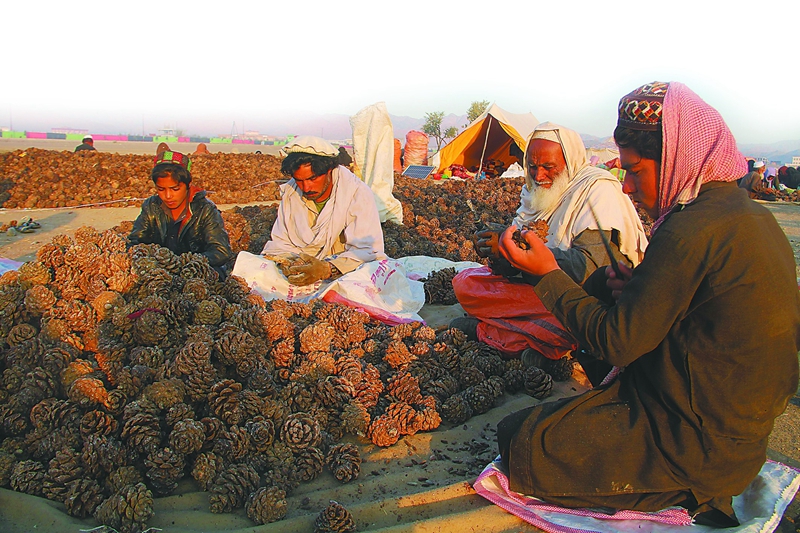
{"label": "pale, hazy white sky above the distant hills", "polygon": [[0,11],[0,126],[16,130],[44,118],[270,133],[279,117],[381,101],[421,118],[489,100],[608,136],[619,98],[660,80],[716,107],[739,143],[800,139],[797,0],[14,0]]}

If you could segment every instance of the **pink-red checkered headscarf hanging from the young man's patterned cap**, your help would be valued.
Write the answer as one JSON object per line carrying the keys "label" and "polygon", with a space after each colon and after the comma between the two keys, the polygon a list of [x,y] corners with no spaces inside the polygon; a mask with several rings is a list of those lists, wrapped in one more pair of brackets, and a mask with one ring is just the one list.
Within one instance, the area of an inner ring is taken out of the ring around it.
{"label": "pink-red checkered headscarf hanging from the young man's patterned cap", "polygon": [[659,218],[653,231],[676,205],[693,202],[703,183],[735,181],[747,173],[722,116],[682,83],[669,83],[662,133]]}

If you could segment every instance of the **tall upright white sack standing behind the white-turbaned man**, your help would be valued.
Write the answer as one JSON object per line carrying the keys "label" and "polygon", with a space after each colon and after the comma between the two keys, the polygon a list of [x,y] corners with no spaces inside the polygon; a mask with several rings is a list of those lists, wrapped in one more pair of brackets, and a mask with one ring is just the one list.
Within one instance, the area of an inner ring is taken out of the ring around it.
{"label": "tall upright white sack standing behind the white-turbaned man", "polygon": [[386,104],[367,106],[352,117],[356,174],[369,185],[381,222],[403,223],[403,206],[392,196],[394,189],[394,130]]}

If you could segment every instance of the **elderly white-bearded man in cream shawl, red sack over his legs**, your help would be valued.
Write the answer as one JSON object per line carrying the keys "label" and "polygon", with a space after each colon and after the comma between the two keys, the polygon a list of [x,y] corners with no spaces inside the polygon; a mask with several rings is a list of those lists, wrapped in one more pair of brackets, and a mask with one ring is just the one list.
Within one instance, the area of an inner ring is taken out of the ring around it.
{"label": "elderly white-bearded man in cream shawl, red sack over his legs", "polygon": [[[626,270],[641,261],[647,237],[636,209],[617,178],[589,165],[577,132],[550,122],[539,124],[528,138],[524,168],[525,185],[513,223],[521,228],[547,222],[547,246],[576,283],[612,261]],[[559,359],[576,350],[575,339],[498,253],[498,236],[505,228],[490,226],[476,234],[478,255],[488,258],[489,267],[464,270],[453,279],[458,301],[469,316],[453,320],[451,327],[506,357],[525,352],[526,363],[540,362],[542,356]]]}

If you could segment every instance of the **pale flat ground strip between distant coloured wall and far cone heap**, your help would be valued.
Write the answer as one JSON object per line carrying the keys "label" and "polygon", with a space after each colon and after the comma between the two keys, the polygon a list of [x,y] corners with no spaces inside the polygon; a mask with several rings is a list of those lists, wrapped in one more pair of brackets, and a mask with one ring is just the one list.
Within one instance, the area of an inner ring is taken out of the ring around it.
{"label": "pale flat ground strip between distant coloured wall and far cone heap", "polygon": [[[13,152],[25,148],[41,148],[42,150],[57,150],[72,152],[80,141],[66,141],[58,139],[3,139],[0,138],[0,152]],[[197,149],[198,143],[168,143],[172,150],[191,154]],[[100,152],[118,154],[148,154],[155,155],[159,143],[135,141],[95,141],[94,147]],[[280,146],[260,144],[211,144],[205,143],[212,154],[252,154],[256,150],[262,154],[277,155]]]}

